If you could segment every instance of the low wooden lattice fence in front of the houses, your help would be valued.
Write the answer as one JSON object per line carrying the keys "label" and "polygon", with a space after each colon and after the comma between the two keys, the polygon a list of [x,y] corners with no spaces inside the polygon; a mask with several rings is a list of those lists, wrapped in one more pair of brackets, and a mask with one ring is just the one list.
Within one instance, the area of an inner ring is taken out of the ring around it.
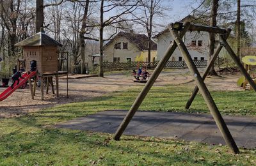
{"label": "low wooden lattice fence in front of the houses", "polygon": [[[138,67],[145,66],[146,68],[154,69],[156,68],[159,61],[154,61],[152,63],[148,62],[127,62],[127,63],[119,63],[119,62],[103,62],[104,68],[111,68],[111,69],[124,69],[124,70],[131,70],[136,69]],[[207,61],[194,61],[196,67],[204,68],[207,66]],[[168,61],[164,68],[186,68],[187,65],[184,61]]]}

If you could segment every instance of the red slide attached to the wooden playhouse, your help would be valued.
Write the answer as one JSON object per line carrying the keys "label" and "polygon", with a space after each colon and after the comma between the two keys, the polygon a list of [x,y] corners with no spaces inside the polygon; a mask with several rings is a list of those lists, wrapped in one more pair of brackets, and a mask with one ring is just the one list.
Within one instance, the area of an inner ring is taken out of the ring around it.
{"label": "red slide attached to the wooden playhouse", "polygon": [[10,96],[16,89],[18,89],[20,86],[22,86],[28,79],[30,79],[31,77],[33,77],[36,74],[36,71],[31,72],[31,73],[24,73],[24,75],[22,75],[22,77],[24,79],[19,78],[20,82],[19,84],[14,84],[13,88],[12,87],[8,87],[7,89],[5,89],[5,91],[3,91],[3,93],[0,94],[0,102],[3,101],[4,99],[6,99],[8,96]]}

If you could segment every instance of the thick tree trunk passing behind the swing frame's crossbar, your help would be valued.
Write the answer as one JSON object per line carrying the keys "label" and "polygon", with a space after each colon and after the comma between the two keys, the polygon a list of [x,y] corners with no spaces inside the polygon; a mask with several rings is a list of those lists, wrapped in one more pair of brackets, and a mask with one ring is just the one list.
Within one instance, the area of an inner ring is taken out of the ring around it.
{"label": "thick tree trunk passing behind the swing frame's crossbar", "polygon": [[[210,22],[210,26],[216,27],[217,26],[217,21],[216,21],[216,17],[218,15],[217,11],[218,11],[218,6],[219,6],[219,0],[212,0],[212,8],[211,8],[211,22]],[[214,33],[209,33],[209,37],[210,37],[210,45],[209,45],[209,58],[212,57],[212,55],[214,54],[214,46],[215,46],[215,34]],[[209,75],[218,75],[215,70],[214,70],[214,66],[212,66]]]}

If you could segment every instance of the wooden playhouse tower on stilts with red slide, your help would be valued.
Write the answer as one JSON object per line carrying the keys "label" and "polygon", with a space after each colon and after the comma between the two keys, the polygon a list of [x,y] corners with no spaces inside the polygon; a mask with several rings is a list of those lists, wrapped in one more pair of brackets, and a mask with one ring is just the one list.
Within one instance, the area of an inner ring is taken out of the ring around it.
{"label": "wooden playhouse tower on stilts with red slide", "polygon": [[[0,94],[1,100],[4,100],[7,96],[13,93],[15,89],[20,87],[22,83],[29,81],[29,87],[31,90],[31,98],[34,99],[36,91],[36,80],[40,78],[41,82],[41,100],[44,100],[44,86],[43,82],[46,79],[46,93],[49,91],[49,85],[51,84],[52,93],[54,94],[54,84],[52,77],[56,78],[56,96],[59,96],[59,77],[61,75],[67,75],[68,72],[58,71],[58,47],[61,47],[61,43],[47,36],[43,29],[39,33],[26,38],[23,41],[15,44],[15,46],[21,46],[23,49],[24,63],[26,64],[26,71],[30,70],[30,62],[36,61],[36,72],[26,73],[22,75],[25,79],[20,79],[19,85],[8,87],[3,93]],[[19,62],[19,61],[18,61]],[[19,64],[17,66],[20,68]],[[31,77],[35,77],[34,86],[31,84]],[[68,79],[67,79],[67,94],[68,94]]]}

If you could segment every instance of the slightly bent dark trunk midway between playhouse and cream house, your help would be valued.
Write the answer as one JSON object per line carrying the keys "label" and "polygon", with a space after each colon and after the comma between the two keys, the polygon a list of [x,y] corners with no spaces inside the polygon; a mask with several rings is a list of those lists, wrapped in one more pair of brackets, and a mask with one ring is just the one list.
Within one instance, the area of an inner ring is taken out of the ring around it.
{"label": "slightly bent dark trunk midway between playhouse and cream house", "polygon": [[86,67],[85,67],[85,39],[84,39],[84,33],[86,30],[86,20],[87,20],[87,14],[88,14],[88,6],[89,6],[89,0],[86,0],[85,8],[84,8],[84,15],[83,15],[83,20],[82,20],[82,27],[80,31],[80,52],[81,52],[81,73],[84,74],[86,73]]}

